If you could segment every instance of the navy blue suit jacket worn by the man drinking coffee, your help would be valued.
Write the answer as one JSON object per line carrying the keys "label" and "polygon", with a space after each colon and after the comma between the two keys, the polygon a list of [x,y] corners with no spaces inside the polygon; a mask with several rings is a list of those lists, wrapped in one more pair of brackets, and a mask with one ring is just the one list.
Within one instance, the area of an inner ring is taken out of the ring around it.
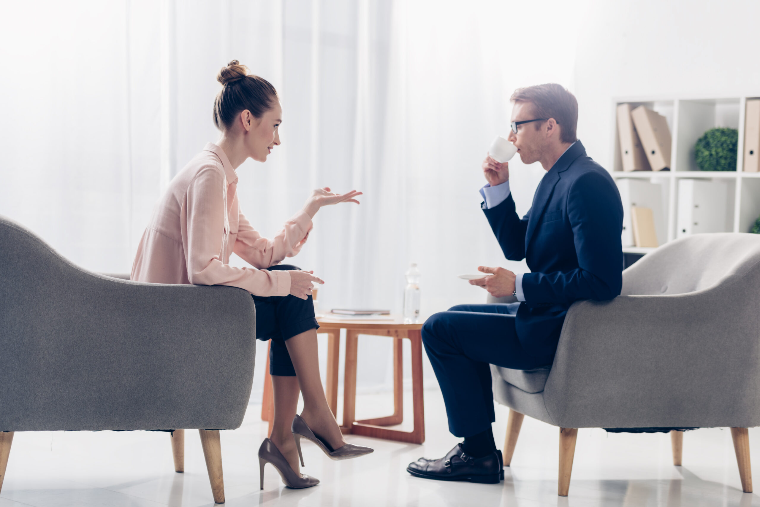
{"label": "navy blue suit jacket worn by the man drinking coffee", "polygon": [[527,260],[515,326],[525,350],[552,362],[568,307],[622,288],[622,203],[609,172],[581,141],[553,165],[520,219],[511,194],[483,209],[509,260]]}

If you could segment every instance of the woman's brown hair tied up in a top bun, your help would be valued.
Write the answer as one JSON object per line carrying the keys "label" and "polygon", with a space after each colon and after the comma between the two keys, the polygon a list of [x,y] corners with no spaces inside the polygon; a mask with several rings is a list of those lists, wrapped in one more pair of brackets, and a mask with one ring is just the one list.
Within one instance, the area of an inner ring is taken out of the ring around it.
{"label": "woman's brown hair tied up in a top bun", "polygon": [[217,75],[222,90],[214,99],[214,124],[220,131],[230,128],[235,118],[248,109],[256,118],[272,109],[277,90],[263,77],[248,73],[245,65],[230,61]]}

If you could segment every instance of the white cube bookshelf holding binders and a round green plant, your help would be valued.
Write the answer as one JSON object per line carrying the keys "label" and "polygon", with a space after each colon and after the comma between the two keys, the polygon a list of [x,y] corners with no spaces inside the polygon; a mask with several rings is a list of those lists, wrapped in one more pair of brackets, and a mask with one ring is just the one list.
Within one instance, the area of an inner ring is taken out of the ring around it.
{"label": "white cube bookshelf holding binders and a round green plant", "polygon": [[[660,244],[676,238],[678,223],[678,181],[680,178],[707,178],[724,181],[729,185],[730,199],[727,200],[727,225],[725,232],[749,232],[752,224],[760,216],[760,173],[743,172],[744,153],[744,112],[745,97],[724,97],[714,99],[686,98],[668,99],[661,97],[622,97],[613,101],[613,124],[615,125],[613,161],[611,174],[616,180],[635,178],[648,181],[653,192],[661,192],[663,206],[660,216],[655,216]],[[617,132],[616,109],[622,103],[646,105],[667,118],[673,144],[670,150],[670,171],[622,171],[619,136]],[[694,146],[699,137],[710,128],[730,127],[739,131],[739,145],[736,153],[736,171],[699,171],[694,156]],[[660,187],[654,187],[660,185]],[[624,203],[625,206],[625,203]],[[648,253],[651,248],[624,247],[626,253]]]}

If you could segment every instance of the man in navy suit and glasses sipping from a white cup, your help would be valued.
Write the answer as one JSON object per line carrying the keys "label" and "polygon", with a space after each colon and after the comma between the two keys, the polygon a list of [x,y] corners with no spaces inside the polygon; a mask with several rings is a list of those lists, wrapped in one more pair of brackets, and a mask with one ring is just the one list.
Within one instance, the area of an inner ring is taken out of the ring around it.
{"label": "man in navy suit and glasses sipping from a white cup", "polygon": [[622,287],[622,203],[610,173],[575,138],[575,96],[559,84],[542,84],[515,91],[511,101],[509,140],[524,163],[540,162],[546,175],[520,219],[508,163],[486,156],[481,207],[505,257],[526,259],[530,272],[481,266],[492,274],[470,283],[520,302],[458,305],[423,326],[449,430],[464,442],[443,458],[410,463],[407,471],[417,477],[498,483],[502,456],[491,431],[489,364],[517,370],[552,364],[568,307],[615,298]]}

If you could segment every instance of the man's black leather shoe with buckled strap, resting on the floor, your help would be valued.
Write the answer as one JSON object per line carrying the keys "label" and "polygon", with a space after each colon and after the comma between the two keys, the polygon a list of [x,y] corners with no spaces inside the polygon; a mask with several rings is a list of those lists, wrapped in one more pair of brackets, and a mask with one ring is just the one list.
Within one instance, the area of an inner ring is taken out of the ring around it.
{"label": "man's black leather shoe with buckled strap, resting on the floor", "polygon": [[502,471],[499,453],[492,452],[483,458],[467,455],[458,443],[440,459],[420,458],[407,467],[407,472],[425,479],[466,480],[471,483],[498,484]]}

